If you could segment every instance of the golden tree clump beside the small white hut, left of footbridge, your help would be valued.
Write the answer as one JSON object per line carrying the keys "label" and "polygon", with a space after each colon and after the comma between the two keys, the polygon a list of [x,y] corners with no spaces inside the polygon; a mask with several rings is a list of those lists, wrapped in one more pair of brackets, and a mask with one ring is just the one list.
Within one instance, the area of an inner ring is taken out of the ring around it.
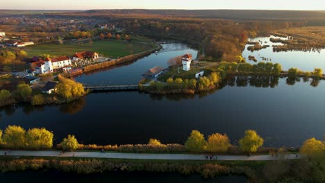
{"label": "golden tree clump beside the small white hut, left of footbridge", "polygon": [[72,100],[74,98],[79,98],[85,95],[85,89],[83,85],[79,82],[75,82],[74,80],[70,80],[68,78],[64,78],[63,76],[58,76],[59,84],[56,86],[56,93],[60,96],[63,96],[67,100]]}

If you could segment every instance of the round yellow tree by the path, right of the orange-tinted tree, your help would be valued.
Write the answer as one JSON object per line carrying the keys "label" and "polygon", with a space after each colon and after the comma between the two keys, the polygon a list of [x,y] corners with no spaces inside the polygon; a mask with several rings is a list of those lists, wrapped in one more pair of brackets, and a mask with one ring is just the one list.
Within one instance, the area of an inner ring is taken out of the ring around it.
{"label": "round yellow tree by the path, right of the orange-tinted tree", "polygon": [[240,150],[245,153],[254,153],[263,146],[264,139],[255,130],[246,130],[244,138],[240,139]]}

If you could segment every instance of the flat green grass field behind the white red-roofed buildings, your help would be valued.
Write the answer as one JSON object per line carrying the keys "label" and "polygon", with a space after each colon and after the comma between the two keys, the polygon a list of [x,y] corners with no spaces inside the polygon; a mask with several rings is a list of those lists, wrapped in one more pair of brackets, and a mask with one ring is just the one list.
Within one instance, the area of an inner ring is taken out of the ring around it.
{"label": "flat green grass field behind the white red-roofed buildings", "polygon": [[68,55],[76,52],[96,51],[100,55],[117,58],[155,48],[154,44],[140,44],[135,42],[122,42],[117,40],[94,41],[85,44],[40,44],[24,48],[28,56],[48,54],[51,56]]}

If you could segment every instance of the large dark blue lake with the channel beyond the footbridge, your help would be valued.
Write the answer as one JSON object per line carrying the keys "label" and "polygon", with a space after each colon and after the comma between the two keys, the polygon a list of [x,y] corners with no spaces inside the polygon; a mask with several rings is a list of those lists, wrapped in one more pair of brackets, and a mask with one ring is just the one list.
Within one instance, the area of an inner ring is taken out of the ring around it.
{"label": "large dark blue lake with the channel beyond the footbridge", "polygon": [[[169,58],[197,53],[182,44],[164,46],[158,55],[76,80],[136,83],[145,70],[166,67]],[[44,127],[53,131],[56,142],[75,134],[81,143],[97,144],[147,143],[150,138],[184,143],[191,130],[206,137],[226,133],[237,143],[244,130],[252,129],[265,139],[265,146],[296,147],[310,137],[321,139],[325,133],[324,92],[324,81],[238,78],[222,89],[194,96],[96,93],[67,105],[5,107],[0,112],[0,129]]]}

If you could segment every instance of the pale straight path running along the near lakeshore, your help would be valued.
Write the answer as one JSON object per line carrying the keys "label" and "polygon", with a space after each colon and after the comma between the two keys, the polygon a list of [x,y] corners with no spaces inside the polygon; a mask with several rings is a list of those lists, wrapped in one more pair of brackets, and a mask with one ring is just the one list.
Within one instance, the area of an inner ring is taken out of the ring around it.
{"label": "pale straight path running along the near lakeshore", "polygon": [[[0,150],[0,155],[4,156],[5,151]],[[14,150],[7,153],[10,156],[31,156],[31,157],[99,157],[99,158],[115,158],[115,159],[169,159],[169,160],[206,160],[206,155],[186,155],[186,154],[142,154],[142,153],[97,153],[97,152],[69,152],[60,155],[59,151],[28,151]],[[218,155],[218,160],[233,161],[266,161],[274,160],[276,157],[271,155],[253,155],[253,156],[231,156]],[[214,159],[215,159],[214,157]],[[298,157],[300,158],[300,156]],[[210,158],[208,158],[210,159]],[[296,155],[285,155],[285,159],[297,159]]]}

